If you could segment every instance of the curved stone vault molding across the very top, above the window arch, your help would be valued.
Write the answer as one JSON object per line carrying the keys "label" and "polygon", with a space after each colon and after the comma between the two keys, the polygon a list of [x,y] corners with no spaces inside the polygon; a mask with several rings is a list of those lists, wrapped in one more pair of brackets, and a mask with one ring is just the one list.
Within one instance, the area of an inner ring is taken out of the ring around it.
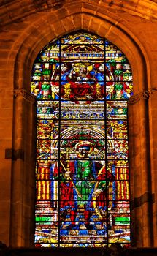
{"label": "curved stone vault molding across the very top, above the window arch", "polygon": [[[135,2],[135,0],[133,2]],[[138,1],[138,8],[136,9],[134,9],[132,1],[127,0],[1,0],[1,27],[13,22],[20,22],[36,12],[59,9],[63,7],[64,4],[70,6],[74,3],[89,3],[92,4],[93,7],[99,6],[103,9],[112,7],[115,8],[115,12],[119,9],[120,12],[123,11],[129,14],[134,12],[134,15],[141,18],[140,23],[150,22],[150,20],[151,23],[156,23],[157,19],[157,4],[152,4],[152,2],[148,0]]]}

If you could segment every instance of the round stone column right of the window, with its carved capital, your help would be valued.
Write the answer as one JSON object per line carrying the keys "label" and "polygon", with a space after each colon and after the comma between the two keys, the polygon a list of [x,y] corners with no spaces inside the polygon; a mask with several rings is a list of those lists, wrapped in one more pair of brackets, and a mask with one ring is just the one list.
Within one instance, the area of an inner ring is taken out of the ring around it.
{"label": "round stone column right of the window, with its carved capital", "polygon": [[131,237],[138,247],[153,246],[149,97],[147,90],[129,99]]}

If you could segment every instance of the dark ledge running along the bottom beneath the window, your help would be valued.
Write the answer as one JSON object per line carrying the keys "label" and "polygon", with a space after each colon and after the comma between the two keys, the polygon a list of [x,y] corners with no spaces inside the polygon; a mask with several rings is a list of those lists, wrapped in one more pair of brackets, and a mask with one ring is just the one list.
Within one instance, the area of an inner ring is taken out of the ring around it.
{"label": "dark ledge running along the bottom beneath the window", "polygon": [[9,248],[0,247],[0,256],[156,256],[157,248]]}

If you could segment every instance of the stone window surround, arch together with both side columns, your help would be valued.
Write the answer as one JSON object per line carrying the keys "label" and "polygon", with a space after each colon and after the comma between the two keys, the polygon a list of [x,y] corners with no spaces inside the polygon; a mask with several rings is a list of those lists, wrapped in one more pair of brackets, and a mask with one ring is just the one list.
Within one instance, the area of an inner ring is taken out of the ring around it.
{"label": "stone window surround, arch together with both side columns", "polygon": [[[70,7],[69,7],[70,11]],[[61,12],[61,10],[60,10]],[[118,20],[113,20],[106,15],[93,15],[90,10],[75,12],[72,15],[60,15],[61,19],[53,20],[52,14],[46,14],[33,23],[18,42],[12,46],[12,50],[18,48],[15,61],[15,109],[13,128],[13,148],[20,157],[12,161],[12,208],[11,208],[11,233],[10,244],[12,246],[30,246],[34,236],[34,143],[35,143],[35,104],[34,97],[29,94],[31,67],[39,50],[52,39],[61,37],[71,31],[85,29],[106,37],[120,48],[129,59],[134,77],[134,94],[142,93],[149,85],[149,61],[142,44],[134,37],[134,34],[126,29]],[[60,17],[58,16],[58,17]],[[45,19],[45,21],[43,21]],[[41,21],[41,19],[40,19]],[[45,26],[47,28],[45,29]],[[31,38],[31,40],[30,40]],[[141,97],[142,98],[142,97]],[[145,97],[144,97],[145,98]],[[138,109],[138,111],[137,111]],[[139,121],[140,120],[140,121]],[[139,121],[139,127],[137,127]],[[131,105],[129,110],[130,130],[130,166],[131,166],[131,200],[133,236],[137,246],[152,246],[150,237],[151,209],[148,200],[137,208],[136,200],[145,193],[151,194],[150,176],[148,167],[149,132],[148,107],[146,101],[138,101],[137,105]],[[139,134],[139,129],[142,133]],[[142,170],[142,184],[139,182],[138,170]],[[18,182],[17,182],[18,181]],[[20,191],[21,194],[17,194]],[[143,229],[145,228],[145,233]]]}

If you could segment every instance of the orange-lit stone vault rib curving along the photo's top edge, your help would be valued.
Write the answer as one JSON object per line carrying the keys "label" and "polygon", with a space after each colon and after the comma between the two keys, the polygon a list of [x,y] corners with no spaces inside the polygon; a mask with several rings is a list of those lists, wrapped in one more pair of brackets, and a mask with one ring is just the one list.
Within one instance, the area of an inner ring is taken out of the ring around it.
{"label": "orange-lit stone vault rib curving along the photo's top edge", "polygon": [[[88,10],[91,9],[93,13],[104,13],[106,9],[122,10],[123,12],[128,12],[147,20],[156,19],[156,0],[133,0],[130,2],[127,0],[95,0],[92,2],[91,0],[82,0],[78,3],[72,0],[38,0],[37,2],[34,0],[30,0],[29,2],[24,0],[23,3],[18,1],[16,4],[15,2],[9,3],[9,1],[6,0],[1,6],[4,6],[1,15],[1,21],[4,25],[12,23],[12,21],[20,20],[20,18],[26,18],[36,12],[51,11],[61,9],[62,7],[64,11],[69,7],[72,7],[72,9],[87,8]],[[12,12],[14,12],[14,15],[12,15]]]}

